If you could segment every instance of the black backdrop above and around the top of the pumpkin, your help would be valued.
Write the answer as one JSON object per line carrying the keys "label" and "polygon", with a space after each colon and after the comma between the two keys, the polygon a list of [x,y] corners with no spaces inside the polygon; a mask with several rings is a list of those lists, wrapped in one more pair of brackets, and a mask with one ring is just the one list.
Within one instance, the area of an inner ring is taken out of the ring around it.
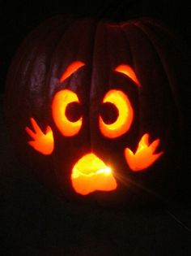
{"label": "black backdrop above and around the top of the pumpkin", "polygon": [[24,37],[52,15],[74,13],[128,20],[152,16],[162,20],[190,47],[190,1],[103,0],[103,1],[1,1],[0,3],[0,84],[4,91],[7,68]]}

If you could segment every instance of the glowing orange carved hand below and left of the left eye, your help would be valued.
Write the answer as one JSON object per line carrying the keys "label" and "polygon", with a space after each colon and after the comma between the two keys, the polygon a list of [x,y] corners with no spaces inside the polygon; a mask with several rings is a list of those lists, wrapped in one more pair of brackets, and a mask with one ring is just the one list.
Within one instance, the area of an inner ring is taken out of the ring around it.
{"label": "glowing orange carved hand below and left of the left eye", "polygon": [[28,132],[28,135],[32,137],[33,141],[28,141],[28,144],[32,146],[32,148],[36,151],[39,151],[41,154],[52,154],[53,152],[53,131],[47,126],[46,132],[42,132],[36,120],[31,118],[32,128],[34,132],[26,127],[25,130]]}

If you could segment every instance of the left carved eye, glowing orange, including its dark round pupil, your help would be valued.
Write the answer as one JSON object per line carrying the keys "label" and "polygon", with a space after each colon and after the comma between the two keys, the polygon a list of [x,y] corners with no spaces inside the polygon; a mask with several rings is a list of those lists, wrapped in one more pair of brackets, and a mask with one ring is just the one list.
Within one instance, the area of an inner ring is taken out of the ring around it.
{"label": "left carved eye, glowing orange, including its dark round pupil", "polygon": [[79,98],[69,89],[63,89],[54,95],[52,103],[53,120],[62,135],[76,135],[82,127]]}

